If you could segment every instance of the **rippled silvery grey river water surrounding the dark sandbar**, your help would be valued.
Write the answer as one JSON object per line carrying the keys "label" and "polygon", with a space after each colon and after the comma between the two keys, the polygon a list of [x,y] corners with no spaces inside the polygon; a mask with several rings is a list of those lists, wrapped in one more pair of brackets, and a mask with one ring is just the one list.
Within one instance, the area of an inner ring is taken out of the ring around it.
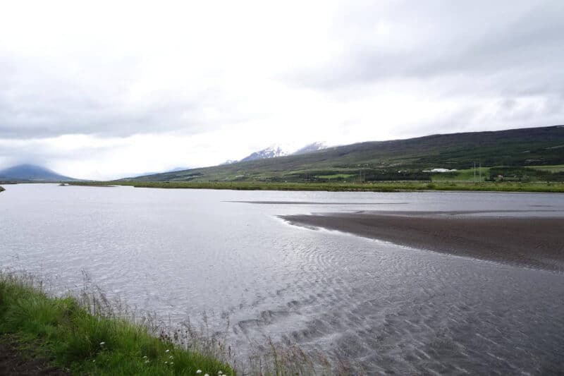
{"label": "rippled silvery grey river water surrounding the dark sandbar", "polygon": [[[230,341],[241,353],[270,336],[360,374],[564,371],[564,274],[313,231],[277,217],[351,210],[553,216],[563,215],[564,195],[5,188],[2,269],[49,276],[59,289],[80,288],[85,270],[108,293],[173,322],[205,310],[219,326],[229,316]],[[305,203],[233,202],[254,200]]]}

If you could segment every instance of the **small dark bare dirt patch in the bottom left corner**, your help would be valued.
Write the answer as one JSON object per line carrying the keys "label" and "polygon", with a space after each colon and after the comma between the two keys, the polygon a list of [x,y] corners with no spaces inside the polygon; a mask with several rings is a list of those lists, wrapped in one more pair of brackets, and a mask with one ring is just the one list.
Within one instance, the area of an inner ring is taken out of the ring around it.
{"label": "small dark bare dirt patch in the bottom left corner", "polygon": [[33,358],[18,348],[17,342],[9,337],[0,337],[0,375],[71,375],[60,368],[49,365],[41,358]]}

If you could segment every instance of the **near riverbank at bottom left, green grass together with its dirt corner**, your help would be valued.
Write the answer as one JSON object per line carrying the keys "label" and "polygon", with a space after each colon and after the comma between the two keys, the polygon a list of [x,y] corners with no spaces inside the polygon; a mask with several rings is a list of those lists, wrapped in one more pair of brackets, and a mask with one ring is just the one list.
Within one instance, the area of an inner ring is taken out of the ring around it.
{"label": "near riverbank at bottom left, green grass together with its dirt corner", "polygon": [[155,332],[96,294],[49,296],[30,275],[0,272],[0,374],[235,375],[212,348]]}

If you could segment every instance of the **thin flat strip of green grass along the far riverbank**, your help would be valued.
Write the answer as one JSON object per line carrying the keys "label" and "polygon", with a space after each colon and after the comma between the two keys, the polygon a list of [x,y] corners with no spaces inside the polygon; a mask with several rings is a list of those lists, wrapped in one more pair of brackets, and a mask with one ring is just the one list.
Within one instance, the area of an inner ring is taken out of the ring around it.
{"label": "thin flat strip of green grass along the far riverbank", "polygon": [[492,192],[564,193],[564,183],[468,181],[379,181],[374,183],[274,183],[263,181],[96,181],[73,182],[77,186],[133,186],[138,188],[192,188],[231,190],[325,190],[330,192],[401,192],[417,190],[472,190]]}

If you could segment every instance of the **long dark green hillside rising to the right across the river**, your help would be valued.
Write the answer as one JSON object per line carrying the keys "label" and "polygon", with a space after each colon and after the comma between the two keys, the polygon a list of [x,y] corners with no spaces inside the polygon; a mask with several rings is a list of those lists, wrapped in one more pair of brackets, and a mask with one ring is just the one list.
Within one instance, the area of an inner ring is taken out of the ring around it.
{"label": "long dark green hillside rising to the right across the river", "polygon": [[424,170],[470,169],[474,162],[482,166],[520,167],[564,164],[564,126],[360,142],[306,154],[141,176],[135,180],[425,180],[429,173]]}

